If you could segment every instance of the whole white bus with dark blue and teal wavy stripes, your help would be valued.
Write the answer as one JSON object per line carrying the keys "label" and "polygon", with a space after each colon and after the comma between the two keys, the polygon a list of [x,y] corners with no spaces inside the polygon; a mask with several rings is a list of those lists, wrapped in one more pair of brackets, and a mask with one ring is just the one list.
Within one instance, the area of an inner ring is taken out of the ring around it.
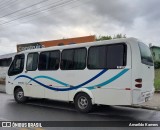
{"label": "whole white bus with dark blue and teal wavy stripes", "polygon": [[154,94],[150,49],[135,38],[56,46],[17,54],[6,92],[18,103],[28,97],[74,102],[81,112],[94,104],[134,105]]}

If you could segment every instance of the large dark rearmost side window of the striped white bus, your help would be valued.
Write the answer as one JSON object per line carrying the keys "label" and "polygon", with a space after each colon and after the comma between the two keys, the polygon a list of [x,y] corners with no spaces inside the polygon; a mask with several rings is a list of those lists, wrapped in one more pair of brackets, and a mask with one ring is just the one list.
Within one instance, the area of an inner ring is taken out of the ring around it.
{"label": "large dark rearmost side window of the striped white bus", "polygon": [[88,69],[117,69],[126,66],[126,45],[123,43],[92,46],[88,51]]}

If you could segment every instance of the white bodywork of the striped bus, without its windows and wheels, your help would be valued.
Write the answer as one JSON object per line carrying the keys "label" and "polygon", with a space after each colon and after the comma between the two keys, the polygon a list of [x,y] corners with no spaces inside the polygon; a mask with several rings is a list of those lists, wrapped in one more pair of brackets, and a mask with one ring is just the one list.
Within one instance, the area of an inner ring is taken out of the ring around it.
{"label": "white bodywork of the striped bus, without its windows and wheels", "polygon": [[[60,50],[114,43],[127,45],[126,66],[117,69],[90,70],[61,70],[56,71],[26,71],[27,55],[30,52],[42,52],[48,50]],[[25,65],[22,73],[7,76],[6,92],[14,93],[14,88],[20,86],[27,97],[47,98],[61,101],[73,101],[77,93],[85,92],[92,99],[93,104],[104,105],[132,105],[147,101],[154,92],[154,66],[146,66],[141,63],[139,41],[134,38],[108,40],[38,49],[26,51]],[[22,52],[23,53],[23,52]],[[135,87],[135,79],[142,78],[143,87]],[[58,90],[56,89],[58,88]],[[146,99],[149,97],[148,99]]]}

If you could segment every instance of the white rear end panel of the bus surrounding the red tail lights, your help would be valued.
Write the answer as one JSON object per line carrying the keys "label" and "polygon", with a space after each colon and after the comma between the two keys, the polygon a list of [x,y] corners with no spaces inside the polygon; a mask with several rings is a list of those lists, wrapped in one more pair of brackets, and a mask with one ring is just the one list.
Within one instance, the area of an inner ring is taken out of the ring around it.
{"label": "white rear end panel of the bus surrounding the red tail lights", "polygon": [[[154,94],[154,66],[142,63],[139,44],[141,42],[131,42],[132,50],[132,104],[140,104],[151,99]],[[146,45],[145,45],[146,46]],[[149,49],[149,48],[148,48]],[[141,83],[136,79],[142,79]],[[135,87],[136,84],[142,84],[141,88]]]}

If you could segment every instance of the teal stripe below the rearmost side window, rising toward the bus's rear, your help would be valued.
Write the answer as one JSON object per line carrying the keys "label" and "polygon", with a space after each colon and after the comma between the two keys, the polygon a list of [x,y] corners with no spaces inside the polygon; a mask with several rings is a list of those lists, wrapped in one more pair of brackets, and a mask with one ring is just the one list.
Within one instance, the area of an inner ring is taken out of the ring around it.
{"label": "teal stripe below the rearmost side window, rising toward the bus's rear", "polygon": [[111,82],[113,82],[114,80],[118,79],[119,77],[121,77],[123,74],[125,74],[129,69],[124,69],[122,70],[120,73],[118,73],[117,75],[115,75],[114,77],[110,78],[109,80],[103,82],[103,83],[100,83],[100,84],[97,84],[97,85],[94,85],[94,86],[90,86],[90,87],[86,87],[87,89],[89,90],[92,90],[92,89],[95,89],[95,87],[103,87]]}

